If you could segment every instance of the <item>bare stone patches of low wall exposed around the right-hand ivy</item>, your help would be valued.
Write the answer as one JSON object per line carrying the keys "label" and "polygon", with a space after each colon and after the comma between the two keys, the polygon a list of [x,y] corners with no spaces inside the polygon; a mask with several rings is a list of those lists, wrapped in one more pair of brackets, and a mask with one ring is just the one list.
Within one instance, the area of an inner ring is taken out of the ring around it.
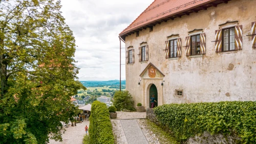
{"label": "bare stone patches of low wall exposed around the right-hand ivy", "polygon": [[[159,121],[154,113],[153,109],[146,109],[146,119],[154,122],[158,126],[160,126]],[[167,132],[170,132],[168,128],[162,127]],[[208,132],[204,132],[202,135],[196,135],[195,137],[190,137],[185,144],[236,144],[240,138],[235,135],[231,134],[228,136],[223,136],[222,134],[214,134],[211,135]]]}

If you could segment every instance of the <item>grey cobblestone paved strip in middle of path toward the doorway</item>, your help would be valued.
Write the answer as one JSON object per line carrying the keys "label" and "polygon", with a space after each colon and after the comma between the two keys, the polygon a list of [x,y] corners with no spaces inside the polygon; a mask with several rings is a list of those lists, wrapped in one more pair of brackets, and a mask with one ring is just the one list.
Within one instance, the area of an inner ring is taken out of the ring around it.
{"label": "grey cobblestone paved strip in middle of path toward the doorway", "polygon": [[136,119],[123,119],[120,123],[129,144],[148,143]]}

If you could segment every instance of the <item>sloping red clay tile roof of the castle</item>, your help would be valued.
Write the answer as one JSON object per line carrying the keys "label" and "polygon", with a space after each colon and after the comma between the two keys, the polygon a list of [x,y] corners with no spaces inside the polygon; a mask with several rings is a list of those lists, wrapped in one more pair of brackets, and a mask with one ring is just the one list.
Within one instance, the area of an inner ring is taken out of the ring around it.
{"label": "sloping red clay tile roof of the castle", "polygon": [[122,36],[132,30],[153,23],[158,19],[172,16],[214,1],[216,0],[155,0],[119,35]]}

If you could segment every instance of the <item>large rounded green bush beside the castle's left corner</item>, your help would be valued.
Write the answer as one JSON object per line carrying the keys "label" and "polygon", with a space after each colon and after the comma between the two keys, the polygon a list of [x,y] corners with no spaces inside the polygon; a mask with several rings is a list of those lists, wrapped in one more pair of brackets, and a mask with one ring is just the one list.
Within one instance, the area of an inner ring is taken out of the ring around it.
{"label": "large rounded green bush beside the castle's left corner", "polygon": [[134,101],[132,98],[132,95],[128,91],[116,91],[114,94],[113,105],[116,107],[117,111],[135,111],[135,108],[133,107]]}

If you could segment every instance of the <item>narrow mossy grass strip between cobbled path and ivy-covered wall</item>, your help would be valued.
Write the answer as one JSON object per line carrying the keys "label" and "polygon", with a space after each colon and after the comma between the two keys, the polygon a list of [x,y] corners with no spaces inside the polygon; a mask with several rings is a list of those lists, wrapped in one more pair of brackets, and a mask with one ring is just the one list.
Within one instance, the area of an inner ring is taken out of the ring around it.
{"label": "narrow mossy grass strip between cobbled path and ivy-covered wall", "polygon": [[150,129],[154,134],[156,134],[158,141],[160,143],[168,144],[178,144],[179,142],[175,140],[169,133],[165,132],[163,129],[158,127],[154,122],[146,119],[147,128]]}

